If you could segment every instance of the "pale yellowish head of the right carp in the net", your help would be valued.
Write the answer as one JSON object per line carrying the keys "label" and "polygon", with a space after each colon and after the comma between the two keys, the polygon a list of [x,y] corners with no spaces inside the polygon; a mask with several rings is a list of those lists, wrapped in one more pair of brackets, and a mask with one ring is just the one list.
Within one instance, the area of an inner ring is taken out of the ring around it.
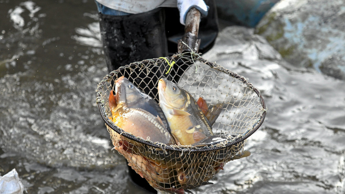
{"label": "pale yellowish head of the right carp in the net", "polygon": [[182,110],[187,103],[187,94],[177,84],[165,78],[158,81],[159,104]]}

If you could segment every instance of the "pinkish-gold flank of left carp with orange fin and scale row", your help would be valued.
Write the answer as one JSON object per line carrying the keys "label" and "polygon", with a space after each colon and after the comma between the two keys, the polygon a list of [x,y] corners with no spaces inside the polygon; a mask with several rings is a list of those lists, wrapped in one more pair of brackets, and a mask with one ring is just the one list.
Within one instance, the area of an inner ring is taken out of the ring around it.
{"label": "pinkish-gold flank of left carp with orange fin and scale row", "polygon": [[144,139],[150,137],[152,142],[176,144],[159,117],[143,109],[127,106],[126,90],[126,84],[120,83],[116,87],[116,96],[112,93],[109,95],[109,107],[114,124],[134,136]]}

